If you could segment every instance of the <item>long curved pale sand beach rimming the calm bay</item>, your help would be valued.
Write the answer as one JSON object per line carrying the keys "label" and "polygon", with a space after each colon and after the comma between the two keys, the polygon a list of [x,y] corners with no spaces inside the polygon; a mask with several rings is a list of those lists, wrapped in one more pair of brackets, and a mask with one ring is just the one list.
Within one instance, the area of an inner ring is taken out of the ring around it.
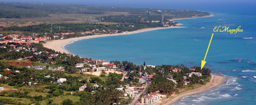
{"label": "long curved pale sand beach rimming the calm bay", "polygon": [[[178,25],[183,25],[183,24],[178,24]],[[141,29],[141,30],[137,30],[137,31],[123,32],[123,33],[118,33],[118,34],[101,34],[101,35],[91,35],[91,36],[85,36],[85,37],[74,37],[74,38],[69,38],[69,39],[64,39],[64,40],[53,40],[50,42],[46,42],[46,43],[43,43],[43,46],[46,48],[49,48],[49,49],[53,49],[57,52],[70,53],[66,49],[64,49],[64,46],[66,44],[72,43],[76,40],[90,39],[90,38],[96,38],[96,37],[108,37],[108,36],[135,34],[135,33],[140,33],[140,32],[145,32],[145,31],[153,31],[153,30],[166,29],[166,28],[186,28],[186,27],[177,26],[177,27],[146,28],[146,29]]]}

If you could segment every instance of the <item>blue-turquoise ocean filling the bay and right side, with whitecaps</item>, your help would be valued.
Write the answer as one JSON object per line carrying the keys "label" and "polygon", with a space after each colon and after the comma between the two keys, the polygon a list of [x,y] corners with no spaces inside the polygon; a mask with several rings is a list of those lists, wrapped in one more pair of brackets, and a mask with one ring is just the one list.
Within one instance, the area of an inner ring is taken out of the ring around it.
{"label": "blue-turquoise ocean filling the bay and right side, with whitecaps", "polygon": [[[207,11],[213,16],[174,21],[187,28],[77,40],[64,47],[72,54],[92,59],[128,61],[136,65],[146,62],[146,65],[183,64],[193,67],[200,66],[214,34],[204,67],[227,76],[226,83],[184,97],[176,105],[255,105],[256,7],[236,5],[205,9],[194,7],[194,10]],[[243,32],[213,32],[213,28],[218,26],[229,29],[241,26]]]}

